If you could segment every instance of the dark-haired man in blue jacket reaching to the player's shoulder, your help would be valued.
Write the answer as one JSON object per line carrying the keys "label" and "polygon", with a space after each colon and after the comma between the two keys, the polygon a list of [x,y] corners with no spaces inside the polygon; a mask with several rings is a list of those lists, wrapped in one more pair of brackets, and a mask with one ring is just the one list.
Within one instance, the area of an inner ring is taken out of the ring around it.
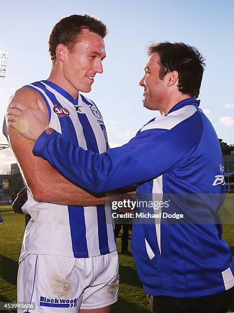
{"label": "dark-haired man in blue jacket reaching to the player's shoulder", "polygon": [[153,312],[225,312],[234,272],[218,216],[225,197],[222,153],[197,100],[204,59],[184,43],[152,44],[148,54],[139,83],[143,104],[161,116],[124,146],[101,154],[74,146],[49,128],[42,104],[38,110],[12,104],[9,126],[36,140],[34,155],[72,182],[97,193],[137,184],[139,199],[147,195],[160,204],[137,208],[151,218],[135,221],[131,241]]}

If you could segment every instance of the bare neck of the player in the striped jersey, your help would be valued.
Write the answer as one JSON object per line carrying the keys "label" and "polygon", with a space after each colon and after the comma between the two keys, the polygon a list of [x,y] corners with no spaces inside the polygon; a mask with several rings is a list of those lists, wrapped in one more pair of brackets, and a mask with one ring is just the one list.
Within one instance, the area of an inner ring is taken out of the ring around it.
{"label": "bare neck of the player in the striped jersey", "polygon": [[47,80],[63,88],[74,99],[78,97],[79,91],[75,90],[74,86],[68,80],[66,80],[63,73],[60,73],[58,69],[52,68],[50,76]]}

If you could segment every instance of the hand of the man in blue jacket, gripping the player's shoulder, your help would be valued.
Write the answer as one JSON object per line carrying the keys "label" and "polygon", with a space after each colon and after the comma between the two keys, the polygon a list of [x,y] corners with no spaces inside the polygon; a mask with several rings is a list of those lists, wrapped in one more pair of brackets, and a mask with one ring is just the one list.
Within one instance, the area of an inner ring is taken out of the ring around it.
{"label": "hand of the man in blue jacket, gripping the player's shoulder", "polygon": [[45,129],[50,127],[48,110],[39,98],[36,102],[37,109],[13,102],[7,112],[8,127],[18,130],[22,136],[35,141]]}

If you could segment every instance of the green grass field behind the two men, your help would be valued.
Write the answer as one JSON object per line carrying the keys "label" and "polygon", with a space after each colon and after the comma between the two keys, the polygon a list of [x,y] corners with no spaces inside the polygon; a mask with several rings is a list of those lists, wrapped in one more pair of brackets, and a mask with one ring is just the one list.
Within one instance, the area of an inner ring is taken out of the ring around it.
{"label": "green grass field behind the two men", "polygon": [[[16,278],[18,257],[20,254],[22,237],[25,228],[25,216],[14,214],[11,206],[0,207],[5,222],[0,225],[0,302],[16,301]],[[233,213],[232,213],[233,211]],[[223,237],[229,243],[234,255],[234,195],[227,196],[225,205],[221,209],[224,222]],[[117,239],[118,251],[120,238]],[[120,289],[119,301],[113,305],[112,313],[147,313],[150,307],[142,285],[136,274],[132,257],[119,254],[120,261]],[[234,299],[228,312],[234,311]],[[5,311],[6,312],[6,311]],[[15,312],[9,310],[9,312]]]}

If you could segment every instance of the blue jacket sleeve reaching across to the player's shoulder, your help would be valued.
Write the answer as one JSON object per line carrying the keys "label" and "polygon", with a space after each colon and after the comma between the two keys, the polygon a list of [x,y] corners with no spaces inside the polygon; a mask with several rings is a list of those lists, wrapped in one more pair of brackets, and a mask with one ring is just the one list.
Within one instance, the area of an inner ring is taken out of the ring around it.
{"label": "blue jacket sleeve reaching across to the player's shoulder", "polygon": [[75,184],[106,192],[145,182],[175,166],[196,148],[201,136],[199,130],[189,131],[187,124],[139,132],[122,147],[101,154],[74,146],[50,128],[40,135],[33,153]]}

